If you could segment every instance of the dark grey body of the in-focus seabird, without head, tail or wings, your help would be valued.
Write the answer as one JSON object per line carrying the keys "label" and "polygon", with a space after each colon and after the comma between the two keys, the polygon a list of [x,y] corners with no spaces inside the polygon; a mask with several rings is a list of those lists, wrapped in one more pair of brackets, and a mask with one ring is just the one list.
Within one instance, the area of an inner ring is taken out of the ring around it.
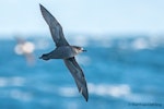
{"label": "dark grey body of the in-focus seabird, without head, tail or wings", "polygon": [[50,52],[51,59],[68,59],[74,56],[75,52],[69,46],[58,47],[52,52]]}

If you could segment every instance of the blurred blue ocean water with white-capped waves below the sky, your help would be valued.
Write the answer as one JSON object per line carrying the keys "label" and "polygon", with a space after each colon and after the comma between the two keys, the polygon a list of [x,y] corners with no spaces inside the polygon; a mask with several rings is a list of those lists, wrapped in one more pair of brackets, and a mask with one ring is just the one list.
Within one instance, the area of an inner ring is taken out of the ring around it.
{"label": "blurred blue ocean water with white-capped waves below the sky", "polygon": [[164,107],[164,38],[74,37],[70,44],[87,50],[77,57],[87,81],[87,102],[62,60],[38,59],[54,50],[50,38],[27,39],[35,45],[33,62],[15,53],[14,39],[0,39],[0,109]]}

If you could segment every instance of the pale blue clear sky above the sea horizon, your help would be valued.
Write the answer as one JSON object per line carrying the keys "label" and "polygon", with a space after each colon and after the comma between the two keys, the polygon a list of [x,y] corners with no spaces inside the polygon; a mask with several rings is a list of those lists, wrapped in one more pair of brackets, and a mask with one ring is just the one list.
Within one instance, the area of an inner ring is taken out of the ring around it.
{"label": "pale blue clear sky above the sea horizon", "polygon": [[0,0],[0,35],[48,34],[39,3],[65,33],[164,32],[164,0]]}

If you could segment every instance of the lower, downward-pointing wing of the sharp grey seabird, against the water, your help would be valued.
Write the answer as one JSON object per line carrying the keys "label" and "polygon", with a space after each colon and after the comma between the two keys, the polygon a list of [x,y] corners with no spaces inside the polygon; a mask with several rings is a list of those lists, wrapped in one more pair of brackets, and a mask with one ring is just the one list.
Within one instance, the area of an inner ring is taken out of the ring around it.
{"label": "lower, downward-pointing wing of the sharp grey seabird, against the water", "polygon": [[65,63],[71,72],[72,76],[74,77],[79,92],[84,96],[85,100],[87,101],[87,85],[82,69],[77,63],[74,57],[65,59]]}

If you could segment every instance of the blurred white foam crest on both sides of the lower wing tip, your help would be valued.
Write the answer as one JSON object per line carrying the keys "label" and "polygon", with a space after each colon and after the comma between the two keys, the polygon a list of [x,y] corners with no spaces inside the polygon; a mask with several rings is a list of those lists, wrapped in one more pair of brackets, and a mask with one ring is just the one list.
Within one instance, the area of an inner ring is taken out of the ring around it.
{"label": "blurred white foam crest on both sides of the lower wing tip", "polygon": [[[89,94],[97,97],[110,97],[126,101],[155,101],[154,97],[149,94],[133,93],[128,84],[93,84],[89,83]],[[60,96],[77,97],[79,96],[77,87],[60,87]]]}

